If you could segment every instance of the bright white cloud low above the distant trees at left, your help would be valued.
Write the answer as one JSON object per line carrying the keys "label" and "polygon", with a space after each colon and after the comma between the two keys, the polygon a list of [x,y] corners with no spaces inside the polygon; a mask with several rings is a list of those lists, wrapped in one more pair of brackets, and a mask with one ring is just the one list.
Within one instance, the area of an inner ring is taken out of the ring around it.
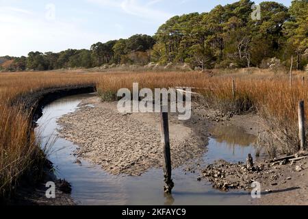
{"label": "bright white cloud low above the distant trees at left", "polygon": [[88,49],[93,42],[114,38],[84,31],[78,25],[60,21],[57,17],[55,21],[48,21],[44,14],[20,13],[22,11],[1,10],[0,56],[27,55],[29,51]]}

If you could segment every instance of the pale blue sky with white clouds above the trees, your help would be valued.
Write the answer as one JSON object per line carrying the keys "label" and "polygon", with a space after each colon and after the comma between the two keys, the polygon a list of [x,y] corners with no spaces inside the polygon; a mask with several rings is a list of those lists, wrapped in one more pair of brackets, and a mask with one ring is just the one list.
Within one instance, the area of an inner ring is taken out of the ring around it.
{"label": "pale blue sky with white clouds above the trees", "polygon": [[[90,49],[96,42],[133,34],[152,36],[172,16],[209,12],[235,1],[0,0],[0,56]],[[290,6],[291,1],[277,2]]]}

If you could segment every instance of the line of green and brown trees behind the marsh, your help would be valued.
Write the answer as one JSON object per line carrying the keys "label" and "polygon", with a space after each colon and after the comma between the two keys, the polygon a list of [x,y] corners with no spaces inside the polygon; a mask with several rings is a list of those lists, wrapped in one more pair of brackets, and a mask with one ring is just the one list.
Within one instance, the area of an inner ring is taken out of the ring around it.
{"label": "line of green and brown trees behind the marsh", "polygon": [[241,0],[210,12],[174,16],[155,36],[92,44],[90,49],[60,53],[30,52],[15,57],[10,70],[92,68],[104,64],[185,63],[192,68],[262,66],[276,57],[285,66],[294,57],[297,69],[308,64],[308,0],[290,8],[274,1],[260,3],[261,19],[251,14],[253,1]]}

